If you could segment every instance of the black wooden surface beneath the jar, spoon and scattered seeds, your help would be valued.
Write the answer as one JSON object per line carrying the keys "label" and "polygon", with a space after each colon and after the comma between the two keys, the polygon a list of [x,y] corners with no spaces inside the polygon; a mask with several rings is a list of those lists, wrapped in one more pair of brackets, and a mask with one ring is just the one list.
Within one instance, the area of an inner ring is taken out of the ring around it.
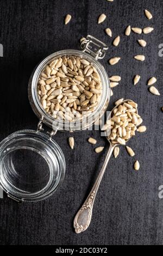
{"label": "black wooden surface beneath the jar, spoon and scattered seeds", "polygon": [[[147,20],[144,9],[153,13]],[[102,63],[108,75],[120,75],[122,81],[114,88],[109,110],[120,97],[139,103],[139,113],[147,132],[137,134],[129,142],[135,157],[126,149],[115,160],[111,157],[99,188],[92,222],[82,234],[75,234],[72,227],[74,215],[84,202],[102,167],[108,143],[98,131],[74,134],[75,149],[67,144],[68,133],[58,132],[55,141],[66,156],[66,175],[61,188],[49,199],[39,203],[17,204],[4,197],[0,200],[1,245],[162,245],[163,199],[159,199],[162,174],[162,58],[159,44],[163,43],[161,0],[1,0],[0,43],[4,57],[0,58],[1,107],[0,139],[21,129],[35,129],[38,119],[30,107],[27,87],[35,65],[49,54],[66,48],[79,49],[78,40],[87,34],[96,36],[109,46]],[[65,26],[64,17],[72,15]],[[99,14],[107,19],[97,25]],[[148,35],[132,33],[124,36],[124,29],[153,26]],[[119,47],[112,46],[112,39],[104,29],[110,27],[113,37],[121,35]],[[137,39],[147,40],[147,47],[137,44]],[[145,54],[143,63],[134,60],[135,54]],[[110,57],[120,56],[121,62],[109,66]],[[141,81],[133,86],[133,77]],[[148,78],[156,76],[161,96],[148,92]],[[87,138],[93,136],[98,145],[106,146],[97,155]],[[135,172],[133,164],[140,161]]]}

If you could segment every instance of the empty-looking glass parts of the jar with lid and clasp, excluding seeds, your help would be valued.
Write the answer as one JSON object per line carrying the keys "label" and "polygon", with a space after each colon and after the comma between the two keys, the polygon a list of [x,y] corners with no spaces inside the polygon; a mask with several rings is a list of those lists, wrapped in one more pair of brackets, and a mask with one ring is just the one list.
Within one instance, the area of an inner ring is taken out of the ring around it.
{"label": "empty-looking glass parts of the jar with lid and clasp, excluding seeds", "polygon": [[[52,136],[60,131],[88,129],[106,110],[110,99],[109,78],[97,60],[105,56],[108,47],[88,35],[81,43],[82,51],[64,50],[51,54],[37,65],[29,80],[28,95],[32,109],[39,118],[36,130],[12,133],[0,143],[0,186],[8,197],[16,201],[35,202],[46,199],[57,190],[64,179],[65,157]],[[102,82],[101,101],[95,111],[76,122],[55,120],[43,109],[37,95],[40,72],[53,59],[62,56],[79,56],[88,60],[98,71]],[[43,133],[43,124],[51,131]]]}

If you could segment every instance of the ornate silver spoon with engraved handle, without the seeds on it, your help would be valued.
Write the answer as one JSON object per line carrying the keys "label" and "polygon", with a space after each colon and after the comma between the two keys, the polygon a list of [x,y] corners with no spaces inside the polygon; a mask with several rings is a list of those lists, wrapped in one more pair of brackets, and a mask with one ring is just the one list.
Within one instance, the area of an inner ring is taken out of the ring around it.
{"label": "ornate silver spoon with engraved handle, without the seeds on it", "polygon": [[[128,102],[128,101],[133,102],[132,100],[124,100],[119,105],[123,104],[124,102]],[[119,105],[115,106],[115,108],[117,108]],[[112,116],[112,113],[113,113],[115,108],[112,109],[110,117]],[[136,108],[136,113],[137,113],[137,108]],[[108,154],[105,157],[103,167],[102,167],[100,173],[98,174],[98,177],[95,181],[95,184],[92,187],[91,192],[89,193],[89,196],[86,198],[84,204],[82,205],[82,208],[80,208],[80,210],[76,214],[76,217],[74,218],[73,227],[74,227],[77,234],[85,231],[90,225],[91,217],[92,217],[93,204],[95,202],[95,198],[96,198],[96,194],[97,194],[99,185],[101,184],[101,181],[102,181],[105,169],[106,169],[106,167],[108,165],[108,162],[110,160],[110,156],[112,154],[112,151],[114,150],[115,147],[117,147],[117,145],[120,145],[120,143],[112,144],[110,139],[106,135],[106,132],[105,132],[105,136],[106,136],[106,139],[108,140],[108,142],[110,143],[110,147],[109,147],[109,150],[108,150]],[[128,142],[128,141],[126,141],[126,142]]]}

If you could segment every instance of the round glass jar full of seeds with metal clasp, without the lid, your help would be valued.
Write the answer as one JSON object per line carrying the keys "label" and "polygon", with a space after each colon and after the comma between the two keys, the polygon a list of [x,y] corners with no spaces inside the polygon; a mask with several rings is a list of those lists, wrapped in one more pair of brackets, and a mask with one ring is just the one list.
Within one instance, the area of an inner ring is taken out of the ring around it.
{"label": "round glass jar full of seeds with metal clasp, without the lid", "polygon": [[29,81],[33,111],[53,130],[88,129],[110,99],[108,75],[98,59],[108,47],[88,35],[80,50],[63,50],[43,59]]}

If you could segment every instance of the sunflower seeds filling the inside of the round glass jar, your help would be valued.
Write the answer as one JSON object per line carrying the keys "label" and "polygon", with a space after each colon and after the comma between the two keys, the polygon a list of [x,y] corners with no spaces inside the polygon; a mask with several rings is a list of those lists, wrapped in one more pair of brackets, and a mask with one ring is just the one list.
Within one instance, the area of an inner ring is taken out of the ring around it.
{"label": "sunflower seeds filling the inside of the round glass jar", "polygon": [[41,72],[37,94],[54,119],[75,121],[95,111],[102,94],[101,77],[86,59],[64,56]]}

